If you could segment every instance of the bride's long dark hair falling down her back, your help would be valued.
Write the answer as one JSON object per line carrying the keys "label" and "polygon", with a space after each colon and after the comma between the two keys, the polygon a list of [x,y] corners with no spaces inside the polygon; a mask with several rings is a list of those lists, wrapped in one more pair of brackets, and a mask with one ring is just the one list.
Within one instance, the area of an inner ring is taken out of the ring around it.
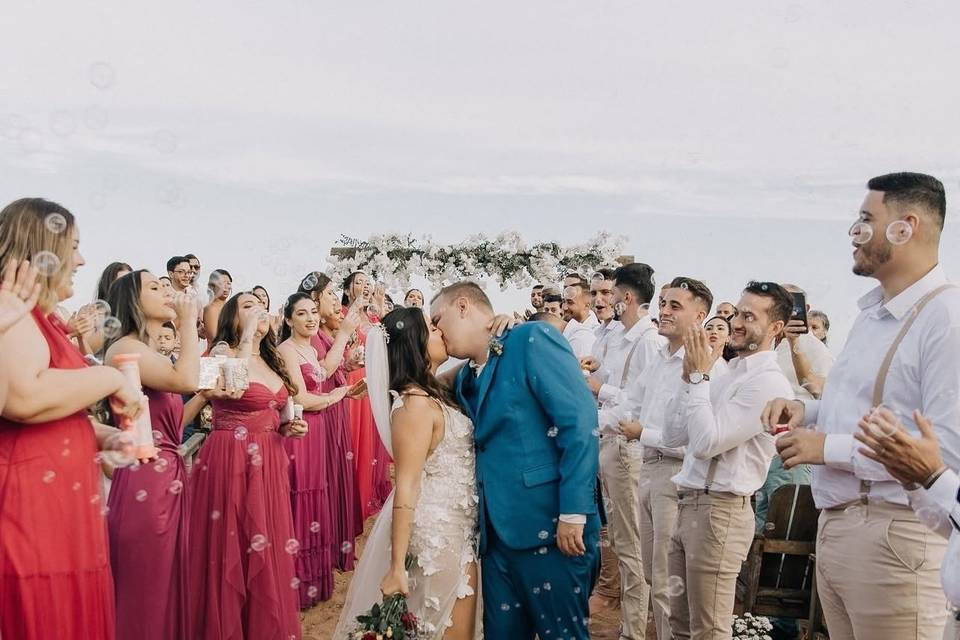
{"label": "bride's long dark hair falling down her back", "polygon": [[458,408],[450,390],[430,372],[430,357],[427,355],[430,330],[423,310],[413,307],[394,309],[381,323],[388,336],[390,390],[404,393],[419,388],[431,398]]}

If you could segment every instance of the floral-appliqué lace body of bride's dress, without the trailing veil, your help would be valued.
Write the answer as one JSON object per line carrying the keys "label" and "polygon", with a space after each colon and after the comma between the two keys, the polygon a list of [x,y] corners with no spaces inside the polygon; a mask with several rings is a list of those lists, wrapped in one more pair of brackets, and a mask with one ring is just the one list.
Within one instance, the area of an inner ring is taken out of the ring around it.
{"label": "floral-appliqu\u00e9 lace body of bride's dress, without the trailing veil", "polygon": [[[477,561],[480,502],[473,424],[461,412],[439,404],[444,433],[421,476],[410,537],[410,553],[417,561],[409,574],[411,610],[430,637],[438,638],[453,624],[450,614],[456,600],[475,592],[467,567]],[[395,396],[392,410],[402,406],[403,397]]]}

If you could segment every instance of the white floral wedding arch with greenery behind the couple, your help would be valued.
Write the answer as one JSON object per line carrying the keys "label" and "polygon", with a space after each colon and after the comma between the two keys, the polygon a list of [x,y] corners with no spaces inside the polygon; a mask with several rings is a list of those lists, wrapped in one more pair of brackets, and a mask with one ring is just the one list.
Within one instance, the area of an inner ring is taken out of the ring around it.
{"label": "white floral wedding arch with greenery behind the couple", "polygon": [[538,282],[559,282],[570,271],[589,276],[596,269],[632,261],[621,255],[626,238],[609,233],[572,247],[555,242],[528,246],[516,232],[494,238],[478,234],[451,245],[409,234],[374,235],[364,241],[341,236],[338,244],[329,260],[334,282],[364,271],[388,289],[405,289],[415,276],[437,288],[468,278],[492,278],[504,290],[525,288]]}

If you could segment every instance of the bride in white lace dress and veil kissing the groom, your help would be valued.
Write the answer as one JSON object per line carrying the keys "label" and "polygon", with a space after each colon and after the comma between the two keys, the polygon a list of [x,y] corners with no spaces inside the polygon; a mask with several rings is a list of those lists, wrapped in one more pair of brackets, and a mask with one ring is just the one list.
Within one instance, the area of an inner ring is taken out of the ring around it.
{"label": "bride in white lace dress and veil kissing the groom", "polygon": [[436,378],[446,360],[440,332],[418,308],[392,311],[367,335],[370,403],[394,459],[396,488],[371,531],[334,638],[350,638],[358,615],[398,592],[425,638],[483,636],[473,424]]}

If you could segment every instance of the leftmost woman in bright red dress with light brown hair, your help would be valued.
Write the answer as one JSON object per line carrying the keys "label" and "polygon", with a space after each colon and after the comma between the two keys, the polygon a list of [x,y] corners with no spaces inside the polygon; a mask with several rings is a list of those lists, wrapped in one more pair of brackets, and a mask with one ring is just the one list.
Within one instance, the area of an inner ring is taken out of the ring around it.
{"label": "leftmost woman in bright red dress with light brown hair", "polygon": [[[88,367],[54,313],[84,264],[73,215],[40,198],[0,211],[0,264],[32,259],[36,308],[0,336],[8,383],[0,418],[0,637],[114,637],[113,581],[101,510],[101,448],[122,438],[87,408],[112,396],[135,417],[140,390],[116,369]],[[51,524],[53,523],[53,524]]]}

